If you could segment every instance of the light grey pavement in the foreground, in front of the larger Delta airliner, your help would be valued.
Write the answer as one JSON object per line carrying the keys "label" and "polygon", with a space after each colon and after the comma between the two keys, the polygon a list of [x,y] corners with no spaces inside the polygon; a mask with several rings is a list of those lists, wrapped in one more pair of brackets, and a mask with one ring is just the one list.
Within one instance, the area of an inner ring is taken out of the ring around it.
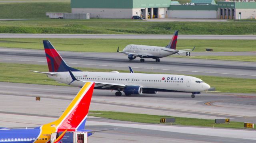
{"label": "light grey pavement in the foreground, in front of the larger Delta airliner", "polygon": [[[54,121],[80,88],[0,82],[0,127],[36,127]],[[36,102],[35,97],[41,101]],[[206,104],[209,103],[210,104]],[[159,92],[155,95],[114,96],[108,90],[94,90],[90,110],[180,116],[191,118],[230,118],[231,121],[256,121],[256,95],[202,93],[190,98],[187,93]],[[254,143],[255,130],[185,127],[116,121],[89,117],[87,129],[117,130],[95,133],[94,143]]]}

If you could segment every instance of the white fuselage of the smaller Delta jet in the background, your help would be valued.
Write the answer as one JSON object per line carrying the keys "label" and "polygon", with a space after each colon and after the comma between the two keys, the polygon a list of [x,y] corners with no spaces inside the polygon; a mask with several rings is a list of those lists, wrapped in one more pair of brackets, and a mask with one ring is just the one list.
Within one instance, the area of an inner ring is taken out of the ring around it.
{"label": "white fuselage of the smaller Delta jet in the background", "polygon": [[[177,50],[169,49],[165,47],[146,46],[146,45],[127,45],[126,47],[124,47],[123,51],[128,53],[147,55],[148,58],[167,57],[169,55],[173,55],[178,52]],[[147,58],[147,57],[144,57],[144,58]]]}

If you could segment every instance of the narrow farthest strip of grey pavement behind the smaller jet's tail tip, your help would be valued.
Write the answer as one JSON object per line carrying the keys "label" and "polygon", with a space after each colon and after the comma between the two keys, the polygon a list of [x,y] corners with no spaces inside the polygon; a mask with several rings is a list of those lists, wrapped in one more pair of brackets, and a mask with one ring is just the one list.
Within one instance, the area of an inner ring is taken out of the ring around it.
{"label": "narrow farthest strip of grey pavement behind the smaller jet's tail tip", "polygon": [[[171,39],[172,35],[116,35],[116,34],[9,34],[0,38],[61,38],[61,39]],[[255,40],[256,35],[179,35],[179,39]]]}

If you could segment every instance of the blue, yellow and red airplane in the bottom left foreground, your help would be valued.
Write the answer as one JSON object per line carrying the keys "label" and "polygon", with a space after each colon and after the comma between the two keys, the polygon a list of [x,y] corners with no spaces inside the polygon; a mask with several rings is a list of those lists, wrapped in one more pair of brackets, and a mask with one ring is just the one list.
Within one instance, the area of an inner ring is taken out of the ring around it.
{"label": "blue, yellow and red airplane in the bottom left foreground", "polygon": [[[86,82],[60,118],[52,123],[33,129],[0,128],[0,143],[58,143],[59,141],[70,143],[67,140],[77,143],[79,139],[82,141],[80,143],[84,143],[87,136],[97,132],[84,129],[93,90],[94,83]],[[74,133],[80,136],[73,136],[72,139],[68,139]],[[65,134],[69,134],[69,136],[65,137],[66,140],[62,140]],[[86,137],[81,135],[86,135]]]}

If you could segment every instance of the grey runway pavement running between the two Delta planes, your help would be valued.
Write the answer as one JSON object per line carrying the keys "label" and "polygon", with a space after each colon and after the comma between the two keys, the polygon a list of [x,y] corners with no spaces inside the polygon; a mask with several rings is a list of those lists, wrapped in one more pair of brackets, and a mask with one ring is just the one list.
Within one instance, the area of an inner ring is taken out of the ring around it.
{"label": "grey runway pavement running between the two Delta planes", "polygon": [[[128,66],[130,66],[135,72],[144,71],[256,79],[255,62],[164,57],[160,59],[159,63],[156,63],[154,59],[145,59],[145,62],[141,63],[139,58],[129,61],[127,55],[122,53],[82,53],[69,51],[59,51],[59,53],[71,67],[128,70]],[[248,53],[255,55],[255,52]],[[232,54],[229,53],[229,55]],[[32,49],[0,48],[0,62],[47,65],[44,50]]]}

